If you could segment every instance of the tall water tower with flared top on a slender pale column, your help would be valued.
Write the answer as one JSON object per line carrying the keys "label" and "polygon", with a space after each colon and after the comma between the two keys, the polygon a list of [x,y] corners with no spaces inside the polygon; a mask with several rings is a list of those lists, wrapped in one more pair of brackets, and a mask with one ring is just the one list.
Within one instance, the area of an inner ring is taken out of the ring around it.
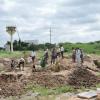
{"label": "tall water tower with flared top on a slender pale column", "polygon": [[16,27],[14,26],[8,26],[6,27],[6,32],[8,32],[8,34],[11,36],[11,49],[10,51],[13,52],[13,34],[16,32]]}

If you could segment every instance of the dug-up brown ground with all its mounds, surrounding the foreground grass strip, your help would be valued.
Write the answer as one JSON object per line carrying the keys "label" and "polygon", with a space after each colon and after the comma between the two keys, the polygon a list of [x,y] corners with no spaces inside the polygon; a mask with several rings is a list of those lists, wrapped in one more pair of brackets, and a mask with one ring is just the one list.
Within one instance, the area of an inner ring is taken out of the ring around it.
{"label": "dug-up brown ground with all its mounds, surrounding the foreground grass strip", "polygon": [[[100,82],[100,69],[93,63],[95,59],[100,61],[97,55],[87,55],[83,65],[77,67],[71,57],[67,56],[60,58],[56,65],[48,64],[46,68],[41,68],[37,60],[36,70],[32,72],[32,63],[27,63],[24,71],[18,68],[11,71],[11,59],[0,58],[0,100],[83,100],[77,97],[77,93],[83,87],[96,89]],[[69,89],[68,93],[65,90],[66,93],[63,94],[50,92],[51,94],[44,96],[36,94],[31,90],[31,86],[47,89],[70,86],[72,89]]]}

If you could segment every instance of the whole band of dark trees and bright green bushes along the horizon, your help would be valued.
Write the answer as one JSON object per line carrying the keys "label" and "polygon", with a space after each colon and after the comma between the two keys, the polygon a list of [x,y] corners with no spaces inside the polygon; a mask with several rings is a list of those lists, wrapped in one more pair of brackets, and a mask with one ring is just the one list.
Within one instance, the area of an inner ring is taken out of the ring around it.
{"label": "whole band of dark trees and bright green bushes along the horizon", "polygon": [[[10,42],[8,41],[7,44],[10,44]],[[45,44],[28,44],[28,43],[24,43],[21,42],[19,43],[19,41],[14,41],[14,50],[16,51],[30,51],[30,50],[44,50],[46,48],[51,49],[53,47],[55,47],[55,44],[50,44],[50,43],[45,43]],[[89,54],[100,54],[100,41],[96,41],[96,42],[89,42],[89,43],[69,43],[69,42],[65,42],[65,43],[59,43],[59,46],[63,46],[65,48],[65,52],[71,53],[72,52],[72,48],[81,48],[83,49],[83,51],[85,53],[89,53]]]}

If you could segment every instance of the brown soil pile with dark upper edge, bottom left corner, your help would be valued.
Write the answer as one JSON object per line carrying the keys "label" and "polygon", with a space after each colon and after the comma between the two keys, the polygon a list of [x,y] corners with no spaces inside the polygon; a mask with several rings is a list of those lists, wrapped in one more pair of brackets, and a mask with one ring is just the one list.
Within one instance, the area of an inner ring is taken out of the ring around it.
{"label": "brown soil pile with dark upper edge, bottom left corner", "polygon": [[22,75],[1,74],[0,96],[18,96],[24,91],[24,84],[20,81]]}

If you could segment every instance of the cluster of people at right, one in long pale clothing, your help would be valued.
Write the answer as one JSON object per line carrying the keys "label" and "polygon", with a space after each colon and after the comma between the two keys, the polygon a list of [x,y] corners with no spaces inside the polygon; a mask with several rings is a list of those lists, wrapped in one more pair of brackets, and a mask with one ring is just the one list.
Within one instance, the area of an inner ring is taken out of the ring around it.
{"label": "cluster of people at right, one in long pale clothing", "polygon": [[83,63],[83,50],[80,48],[72,48],[72,61],[76,62],[78,66],[80,66]]}

